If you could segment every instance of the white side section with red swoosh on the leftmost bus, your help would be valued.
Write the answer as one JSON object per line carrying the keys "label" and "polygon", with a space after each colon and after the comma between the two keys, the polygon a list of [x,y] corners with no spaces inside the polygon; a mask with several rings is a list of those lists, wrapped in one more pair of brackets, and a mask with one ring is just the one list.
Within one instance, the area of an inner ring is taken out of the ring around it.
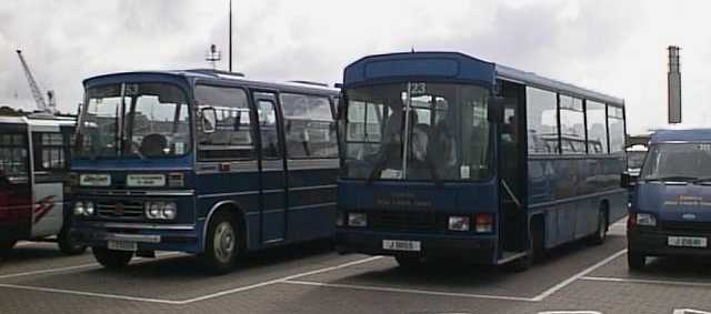
{"label": "white side section with red swoosh on the leftmost bus", "polygon": [[64,219],[68,134],[59,125],[32,125],[31,237],[59,234]]}

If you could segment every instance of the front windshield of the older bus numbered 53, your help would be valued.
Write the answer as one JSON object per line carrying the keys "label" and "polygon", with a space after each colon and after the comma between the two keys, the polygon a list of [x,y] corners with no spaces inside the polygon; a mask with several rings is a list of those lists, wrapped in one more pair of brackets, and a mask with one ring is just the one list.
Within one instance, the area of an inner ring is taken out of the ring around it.
{"label": "front windshield of the older bus numbered 53", "polygon": [[90,88],[80,119],[77,158],[169,158],[184,155],[191,146],[188,101],[174,85]]}

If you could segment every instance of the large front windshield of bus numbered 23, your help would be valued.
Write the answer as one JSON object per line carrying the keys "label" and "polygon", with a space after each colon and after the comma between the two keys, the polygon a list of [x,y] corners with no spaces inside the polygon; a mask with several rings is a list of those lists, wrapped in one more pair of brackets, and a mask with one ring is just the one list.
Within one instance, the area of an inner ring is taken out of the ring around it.
{"label": "large front windshield of bus numbered 23", "polygon": [[346,178],[469,181],[490,175],[487,89],[410,82],[346,93]]}

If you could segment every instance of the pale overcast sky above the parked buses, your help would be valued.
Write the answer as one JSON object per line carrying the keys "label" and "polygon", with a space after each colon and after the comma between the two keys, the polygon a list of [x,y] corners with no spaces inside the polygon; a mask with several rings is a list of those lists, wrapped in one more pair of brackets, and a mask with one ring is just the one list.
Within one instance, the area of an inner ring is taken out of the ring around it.
{"label": "pale overcast sky above the parked buses", "polygon": [[[372,53],[454,50],[625,99],[628,130],[667,121],[667,47],[681,45],[684,124],[711,126],[711,2],[234,0],[236,69],[338,82]],[[33,108],[22,49],[62,111],[94,74],[227,68],[228,0],[2,0],[0,104]]]}

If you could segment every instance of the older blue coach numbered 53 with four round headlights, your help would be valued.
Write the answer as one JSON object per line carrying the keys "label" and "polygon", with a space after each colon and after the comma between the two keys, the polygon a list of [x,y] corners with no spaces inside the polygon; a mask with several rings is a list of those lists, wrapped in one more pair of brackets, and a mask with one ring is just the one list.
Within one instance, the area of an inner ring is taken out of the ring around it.
{"label": "older blue coach numbered 53 with four round headlights", "polygon": [[333,235],[338,90],[213,70],[84,88],[73,233],[103,266],[181,251],[222,273],[242,252]]}

